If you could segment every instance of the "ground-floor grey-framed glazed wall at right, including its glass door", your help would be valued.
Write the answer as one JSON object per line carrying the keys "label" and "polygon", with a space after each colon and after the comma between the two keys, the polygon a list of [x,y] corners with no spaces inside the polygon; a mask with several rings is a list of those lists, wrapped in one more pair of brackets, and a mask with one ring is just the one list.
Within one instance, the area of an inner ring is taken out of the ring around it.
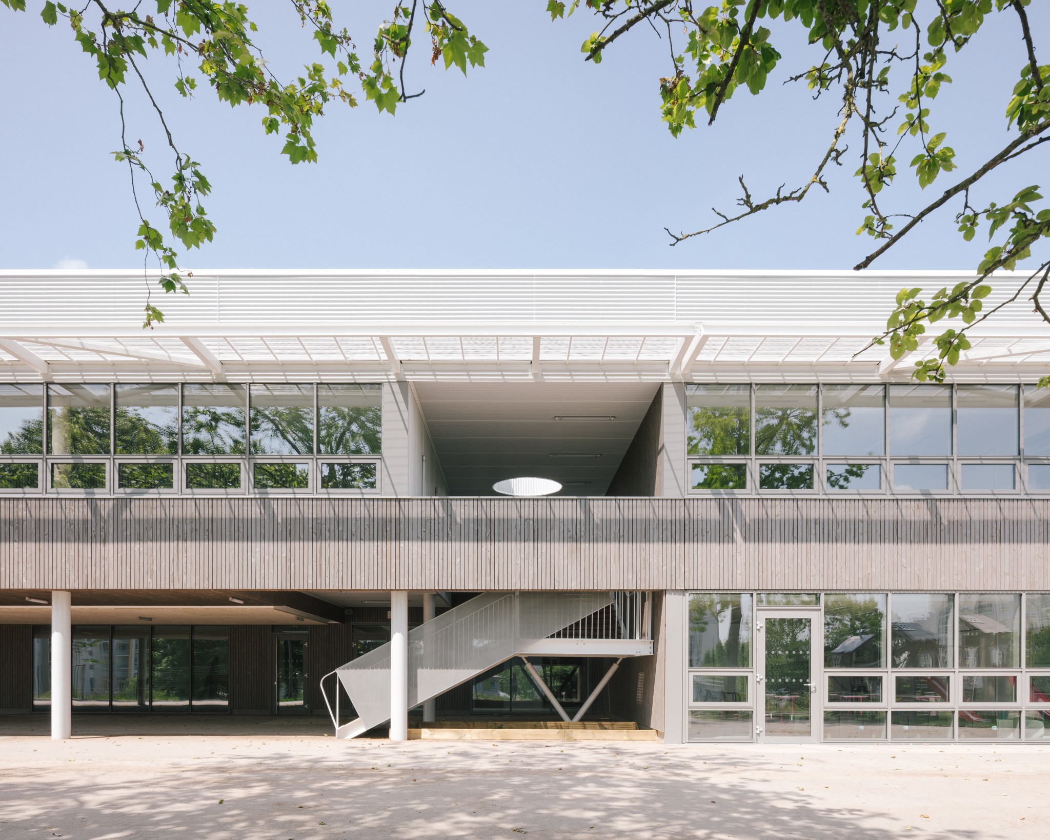
{"label": "ground-floor grey-framed glazed wall at right, including its glass door", "polygon": [[692,592],[693,741],[1050,742],[1050,593]]}

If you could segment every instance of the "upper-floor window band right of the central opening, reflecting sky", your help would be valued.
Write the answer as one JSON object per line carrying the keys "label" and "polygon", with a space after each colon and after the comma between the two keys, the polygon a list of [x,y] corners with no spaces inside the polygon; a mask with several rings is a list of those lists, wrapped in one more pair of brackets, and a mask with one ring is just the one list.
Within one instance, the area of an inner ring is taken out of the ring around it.
{"label": "upper-floor window band right of the central opening, reflecting sky", "polygon": [[686,406],[691,492],[1050,492],[1035,385],[694,383]]}

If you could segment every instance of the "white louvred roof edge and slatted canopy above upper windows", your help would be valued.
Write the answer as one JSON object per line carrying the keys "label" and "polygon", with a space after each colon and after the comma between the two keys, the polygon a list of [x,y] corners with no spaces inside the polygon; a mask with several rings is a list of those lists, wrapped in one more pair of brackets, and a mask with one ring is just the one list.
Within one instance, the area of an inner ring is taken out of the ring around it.
{"label": "white louvred roof edge and slatted canopy above upper windows", "polygon": [[[0,378],[902,380],[923,348],[896,362],[885,346],[864,350],[897,291],[920,286],[930,296],[967,276],[195,271],[191,296],[153,294],[166,320],[143,330],[142,272],[6,271]],[[986,307],[1021,276],[998,276]],[[1050,328],[1024,300],[971,340],[957,381],[1050,371]]]}

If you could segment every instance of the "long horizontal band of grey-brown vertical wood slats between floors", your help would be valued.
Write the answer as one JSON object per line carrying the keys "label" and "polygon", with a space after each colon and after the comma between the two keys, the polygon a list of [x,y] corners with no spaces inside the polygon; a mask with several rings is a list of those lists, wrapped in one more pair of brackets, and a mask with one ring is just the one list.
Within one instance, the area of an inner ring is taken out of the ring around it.
{"label": "long horizontal band of grey-brown vertical wood slats between floors", "polygon": [[1050,589],[1050,499],[2,499],[0,589]]}

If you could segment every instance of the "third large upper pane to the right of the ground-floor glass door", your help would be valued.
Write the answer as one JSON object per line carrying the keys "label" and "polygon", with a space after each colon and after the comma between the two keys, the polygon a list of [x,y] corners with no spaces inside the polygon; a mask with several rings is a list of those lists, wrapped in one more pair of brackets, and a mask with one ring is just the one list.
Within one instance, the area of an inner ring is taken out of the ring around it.
{"label": "third large upper pane to the right of the ground-floor glass door", "polygon": [[959,596],[959,666],[1021,667],[1021,595]]}

